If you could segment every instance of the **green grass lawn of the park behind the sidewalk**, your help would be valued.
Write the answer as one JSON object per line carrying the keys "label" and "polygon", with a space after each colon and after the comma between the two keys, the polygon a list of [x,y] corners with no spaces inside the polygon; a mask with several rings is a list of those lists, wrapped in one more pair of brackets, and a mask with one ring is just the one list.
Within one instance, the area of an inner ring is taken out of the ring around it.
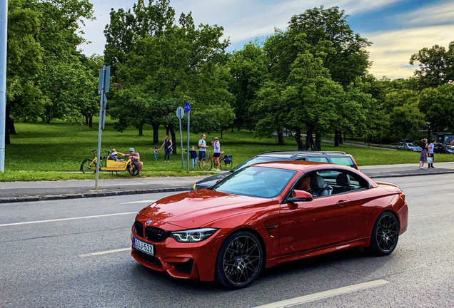
{"label": "green grass lawn of the park behind the sidewalk", "polygon": [[[86,126],[71,125],[62,121],[51,124],[16,123],[17,135],[11,135],[11,144],[6,145],[5,173],[0,173],[0,181],[14,180],[70,180],[94,179],[94,174],[79,172],[85,158],[92,158],[90,149],[98,146],[98,123],[93,129]],[[164,129],[160,130],[161,147]],[[221,138],[218,133],[207,135],[207,144],[217,135],[220,138],[221,150],[233,155],[233,165],[238,165],[253,155],[267,150],[296,149],[296,141],[285,137],[286,145],[279,146],[277,136],[253,138],[253,133],[227,131]],[[197,145],[200,135],[191,134],[191,145]],[[171,155],[171,163],[163,162],[163,150],[158,152],[158,160],[153,158],[153,130],[151,126],[143,129],[143,136],[138,136],[138,130],[128,128],[119,133],[114,130],[114,123],[106,121],[102,132],[101,155],[104,149],[116,148],[121,153],[128,153],[128,148],[135,148],[143,161],[142,176],[193,176],[207,173],[196,170],[187,171],[186,161],[181,166],[179,132],[177,140],[173,140],[173,148],[178,149],[178,155]],[[186,132],[183,131],[183,148],[186,148]],[[419,153],[403,151],[378,150],[360,148],[353,145],[340,145],[335,148],[333,143],[323,143],[323,150],[342,150],[353,155],[358,165],[386,165],[400,163],[418,163]],[[212,149],[211,149],[212,150]],[[186,153],[185,159],[186,159]],[[437,155],[437,162],[454,161],[454,155]],[[191,166],[190,166],[191,169]],[[101,173],[100,178],[130,178],[126,173]]]}

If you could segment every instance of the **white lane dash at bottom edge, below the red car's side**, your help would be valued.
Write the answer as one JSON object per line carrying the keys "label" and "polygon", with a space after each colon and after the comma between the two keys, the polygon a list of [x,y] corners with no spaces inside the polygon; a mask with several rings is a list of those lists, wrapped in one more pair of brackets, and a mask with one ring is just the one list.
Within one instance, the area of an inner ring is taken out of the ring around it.
{"label": "white lane dash at bottom edge, below the red car's side", "polygon": [[331,289],[328,291],[324,292],[318,292],[314,294],[308,294],[302,297],[295,297],[293,299],[286,299],[281,302],[274,302],[271,304],[265,304],[263,306],[257,306],[255,308],[283,308],[283,307],[292,307],[296,306],[297,304],[303,304],[306,302],[312,302],[318,299],[324,299],[328,297],[333,297],[336,295],[344,294],[344,293],[349,293],[353,291],[358,291],[360,289],[368,289],[371,287],[378,287],[383,284],[388,284],[389,282],[383,279],[380,280],[374,280],[371,282],[364,282],[360,284],[353,284],[347,287],[341,287],[338,289]]}

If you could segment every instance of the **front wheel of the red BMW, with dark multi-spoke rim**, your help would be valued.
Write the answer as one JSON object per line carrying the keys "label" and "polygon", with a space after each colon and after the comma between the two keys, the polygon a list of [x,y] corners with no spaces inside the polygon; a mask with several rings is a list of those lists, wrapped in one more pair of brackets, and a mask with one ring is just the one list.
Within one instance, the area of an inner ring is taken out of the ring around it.
{"label": "front wheel of the red BMW, with dark multi-spoke rim", "polygon": [[216,258],[216,281],[229,289],[242,289],[260,274],[263,248],[251,232],[233,233],[221,245]]}

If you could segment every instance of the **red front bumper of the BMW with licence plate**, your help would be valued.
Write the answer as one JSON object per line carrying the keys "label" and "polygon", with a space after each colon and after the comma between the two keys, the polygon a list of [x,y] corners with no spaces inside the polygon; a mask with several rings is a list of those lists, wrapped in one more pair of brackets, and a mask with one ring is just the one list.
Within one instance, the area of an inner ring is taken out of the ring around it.
{"label": "red front bumper of the BMW with licence plate", "polygon": [[201,242],[181,243],[172,237],[163,242],[152,242],[139,236],[134,229],[132,237],[154,245],[154,255],[147,255],[132,246],[131,255],[141,265],[159,272],[167,272],[171,277],[178,279],[197,279],[201,281],[214,280],[216,257],[223,236],[222,230]]}

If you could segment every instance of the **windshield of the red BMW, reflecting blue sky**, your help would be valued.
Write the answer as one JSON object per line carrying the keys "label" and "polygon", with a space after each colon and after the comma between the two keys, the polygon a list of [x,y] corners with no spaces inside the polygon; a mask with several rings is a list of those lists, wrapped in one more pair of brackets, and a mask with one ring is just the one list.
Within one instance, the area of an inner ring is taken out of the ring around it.
{"label": "windshield of the red BMW, reflecting blue sky", "polygon": [[286,187],[296,171],[267,167],[248,167],[222,180],[211,188],[221,193],[276,197]]}

